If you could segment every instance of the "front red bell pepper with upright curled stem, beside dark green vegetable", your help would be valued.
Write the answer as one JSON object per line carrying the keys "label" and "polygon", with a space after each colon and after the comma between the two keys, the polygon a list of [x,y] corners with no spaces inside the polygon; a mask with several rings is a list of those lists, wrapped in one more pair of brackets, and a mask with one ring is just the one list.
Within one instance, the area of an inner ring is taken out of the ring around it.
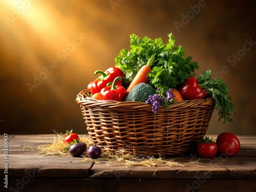
{"label": "front red bell pepper with upright curled stem, beside dark green vegetable", "polygon": [[116,77],[112,83],[112,86],[104,87],[100,91],[100,100],[124,101],[126,89],[120,84],[116,84],[116,82],[119,80],[121,80],[121,77]]}

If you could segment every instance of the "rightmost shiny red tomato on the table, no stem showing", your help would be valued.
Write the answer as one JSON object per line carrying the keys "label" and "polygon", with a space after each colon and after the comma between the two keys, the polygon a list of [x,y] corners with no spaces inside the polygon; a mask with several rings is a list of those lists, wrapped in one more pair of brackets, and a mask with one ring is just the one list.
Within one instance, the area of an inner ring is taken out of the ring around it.
{"label": "rightmost shiny red tomato on the table, no stem showing", "polygon": [[216,140],[218,153],[227,157],[235,156],[240,150],[240,141],[232,133],[221,133]]}

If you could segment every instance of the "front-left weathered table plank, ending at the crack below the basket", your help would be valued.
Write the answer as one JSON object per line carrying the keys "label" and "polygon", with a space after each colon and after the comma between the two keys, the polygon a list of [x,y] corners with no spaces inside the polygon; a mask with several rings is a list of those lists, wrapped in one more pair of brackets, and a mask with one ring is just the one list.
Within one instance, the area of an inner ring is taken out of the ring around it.
{"label": "front-left weathered table plank, ending at the crack below the basket", "polygon": [[[0,158],[4,159],[3,155]],[[33,169],[36,177],[88,177],[92,162],[83,158],[42,155],[9,155],[8,175],[24,176],[26,169]],[[0,176],[4,176],[4,164],[0,164]]]}

